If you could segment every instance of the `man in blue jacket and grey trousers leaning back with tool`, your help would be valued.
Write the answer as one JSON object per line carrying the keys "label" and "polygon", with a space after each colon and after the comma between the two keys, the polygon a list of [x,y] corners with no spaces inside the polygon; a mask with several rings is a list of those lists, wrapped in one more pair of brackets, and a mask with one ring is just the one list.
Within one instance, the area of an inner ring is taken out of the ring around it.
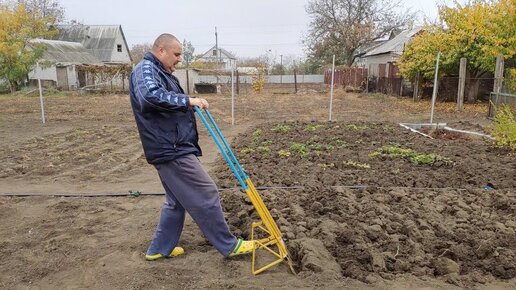
{"label": "man in blue jacket and grey trousers leaning back with tool", "polygon": [[185,210],[211,244],[225,257],[247,254],[253,241],[237,239],[224,219],[217,187],[198,156],[194,106],[208,102],[184,94],[172,75],[181,61],[182,46],[171,34],[162,34],[130,77],[134,117],[147,162],[157,169],[166,191],[161,217],[145,259],[170,258],[184,253],[177,247]]}

